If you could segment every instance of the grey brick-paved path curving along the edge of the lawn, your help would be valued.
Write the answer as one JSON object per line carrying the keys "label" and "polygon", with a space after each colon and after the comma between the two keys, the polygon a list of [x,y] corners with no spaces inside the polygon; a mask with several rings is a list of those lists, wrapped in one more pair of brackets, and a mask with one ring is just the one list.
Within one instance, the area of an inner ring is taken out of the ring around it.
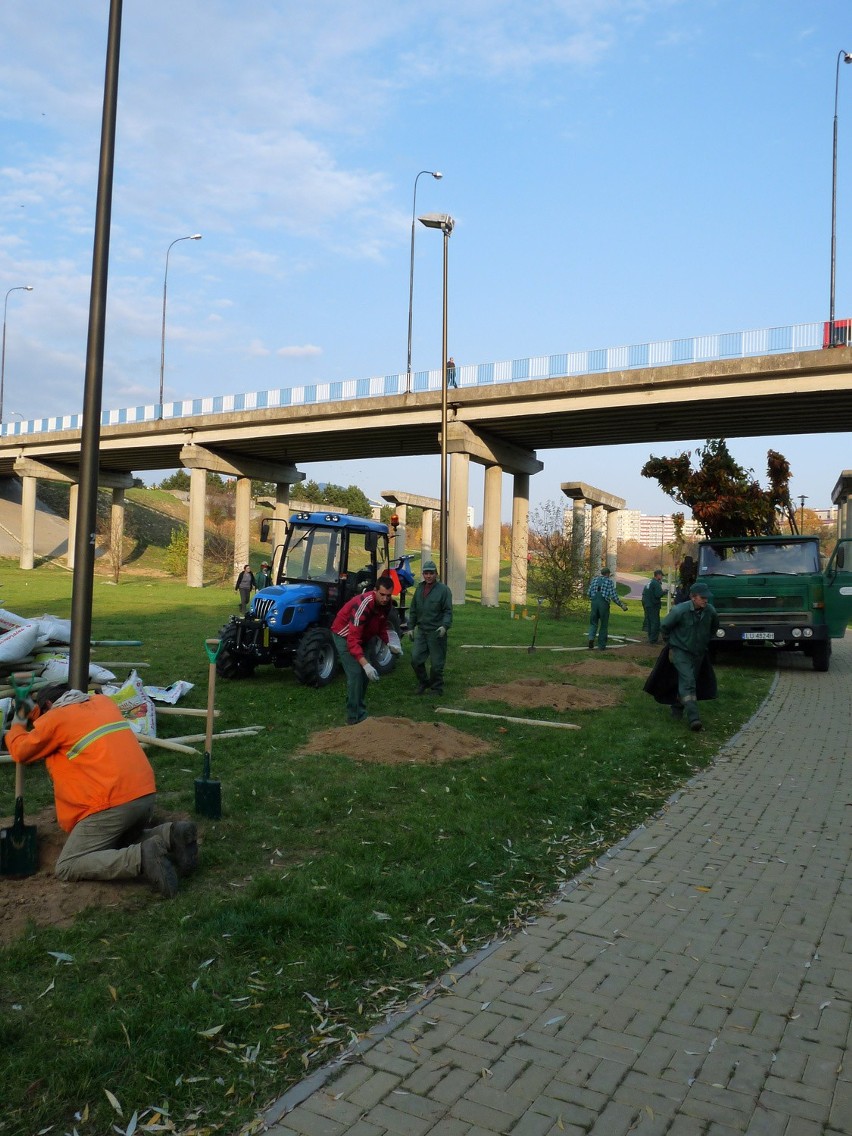
{"label": "grey brick-paved path curving along the edge of the lawn", "polygon": [[[852,1136],[852,640],[274,1136]],[[676,727],[675,727],[676,728]]]}

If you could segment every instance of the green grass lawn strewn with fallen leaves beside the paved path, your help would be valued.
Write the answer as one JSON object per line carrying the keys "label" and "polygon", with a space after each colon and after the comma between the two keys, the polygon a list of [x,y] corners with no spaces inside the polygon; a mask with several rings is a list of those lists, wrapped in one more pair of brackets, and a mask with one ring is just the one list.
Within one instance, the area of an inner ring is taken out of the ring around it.
{"label": "green grass lawn strewn with fallen leaves beside the paved path", "polygon": [[[69,615],[67,573],[7,563],[2,578],[10,610]],[[611,630],[641,637],[638,607],[615,612]],[[203,641],[233,610],[229,587],[98,580],[93,637],[142,638],[145,680],[189,679],[195,688],[184,702],[201,707]],[[519,677],[600,685],[560,669],[584,652],[461,648],[527,646],[533,626],[506,605],[457,609],[442,701],[524,715],[471,702],[466,688]],[[537,646],[584,642],[585,613],[541,620]],[[610,679],[624,692],[619,705],[561,716],[579,732],[444,719],[493,750],[440,766],[298,755],[311,733],[342,724],[340,677],[321,691],[270,668],[219,682],[218,726],[266,728],[214,744],[224,816],[199,820],[201,867],[178,897],[141,893],[130,911],[93,909],[67,929],[31,927],[0,951],[0,1133],[52,1125],[100,1136],[114,1124],[124,1130],[134,1112],[150,1121],[151,1109],[167,1111],[175,1133],[250,1130],[308,1070],[465,952],[518,926],[559,880],[658,809],[754,711],[771,673],[770,657],[721,666],[700,735],[673,724],[636,677]],[[370,688],[370,713],[433,720],[434,702],[415,696],[414,685],[403,660]],[[526,716],[560,719],[548,709]],[[173,736],[194,729],[191,719],[162,722]],[[200,762],[151,752],[162,808],[191,813]],[[0,777],[10,797],[10,776]],[[34,769],[27,811],[51,799],[44,770]]]}

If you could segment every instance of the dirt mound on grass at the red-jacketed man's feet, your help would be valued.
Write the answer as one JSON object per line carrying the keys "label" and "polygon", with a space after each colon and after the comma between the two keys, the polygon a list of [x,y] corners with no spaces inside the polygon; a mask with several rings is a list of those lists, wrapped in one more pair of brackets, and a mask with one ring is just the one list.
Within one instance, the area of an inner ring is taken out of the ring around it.
{"label": "dirt mound on grass at the red-jacketed man's feet", "polygon": [[311,734],[301,753],[341,753],[353,761],[409,766],[463,761],[490,750],[487,742],[443,721],[366,718],[357,726]]}

